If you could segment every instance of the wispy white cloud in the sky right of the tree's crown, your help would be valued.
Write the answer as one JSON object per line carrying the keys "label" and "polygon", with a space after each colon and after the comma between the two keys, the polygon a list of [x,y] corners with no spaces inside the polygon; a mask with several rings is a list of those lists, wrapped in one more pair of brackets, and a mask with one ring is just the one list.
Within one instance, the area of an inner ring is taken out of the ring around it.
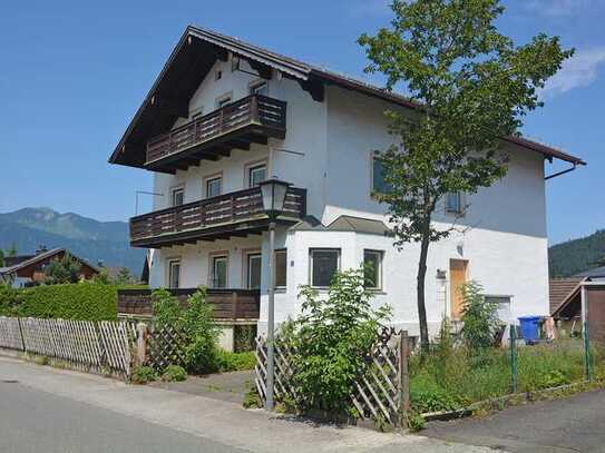
{"label": "wispy white cloud in the sky right of the tree's crown", "polygon": [[564,61],[563,68],[546,82],[541,96],[553,97],[574,88],[588,87],[598,77],[599,66],[605,63],[605,47],[576,52]]}

